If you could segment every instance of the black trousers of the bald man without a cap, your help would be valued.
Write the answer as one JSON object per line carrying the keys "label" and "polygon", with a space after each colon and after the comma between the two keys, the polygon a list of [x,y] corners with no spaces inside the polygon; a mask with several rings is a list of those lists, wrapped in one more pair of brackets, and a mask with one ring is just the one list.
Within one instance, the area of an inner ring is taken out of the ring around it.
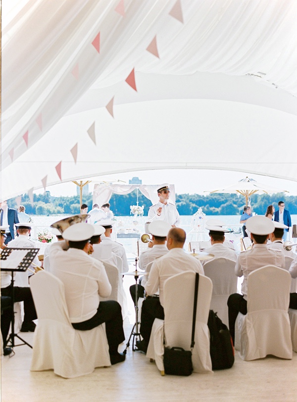
{"label": "black trousers of the bald man without a cap", "polygon": [[163,320],[164,309],[161,306],[159,298],[148,297],[142,304],[140,324],[140,334],[147,344],[149,342],[151,328],[155,318]]}

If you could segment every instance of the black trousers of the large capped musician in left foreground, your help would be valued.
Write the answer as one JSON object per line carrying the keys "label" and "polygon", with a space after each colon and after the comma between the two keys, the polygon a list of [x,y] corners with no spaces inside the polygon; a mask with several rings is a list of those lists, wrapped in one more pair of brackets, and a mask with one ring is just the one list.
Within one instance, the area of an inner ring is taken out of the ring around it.
{"label": "black trousers of the large capped musician in left foreground", "polygon": [[97,313],[87,321],[72,323],[73,328],[88,331],[105,322],[105,332],[109,354],[116,354],[118,346],[125,340],[122,308],[118,302],[108,300],[100,302]]}

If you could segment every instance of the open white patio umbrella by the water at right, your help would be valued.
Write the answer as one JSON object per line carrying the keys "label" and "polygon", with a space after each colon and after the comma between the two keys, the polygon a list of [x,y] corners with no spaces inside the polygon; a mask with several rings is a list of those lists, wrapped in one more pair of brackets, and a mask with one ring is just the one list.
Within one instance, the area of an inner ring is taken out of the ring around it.
{"label": "open white patio umbrella by the water at right", "polygon": [[274,187],[268,186],[266,184],[262,184],[257,182],[254,179],[249,179],[246,177],[245,179],[239,180],[237,183],[232,184],[231,186],[227,186],[220,190],[210,190],[205,191],[204,193],[238,193],[246,198],[246,205],[248,204],[248,197],[256,192],[259,193],[289,193],[287,190],[280,190]]}

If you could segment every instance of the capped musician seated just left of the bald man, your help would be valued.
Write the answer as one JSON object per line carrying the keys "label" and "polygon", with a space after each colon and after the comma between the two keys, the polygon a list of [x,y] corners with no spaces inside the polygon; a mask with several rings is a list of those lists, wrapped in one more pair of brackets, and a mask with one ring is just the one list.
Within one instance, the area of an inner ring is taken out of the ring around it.
{"label": "capped musician seated just left of the bald man", "polygon": [[[148,231],[152,235],[152,240],[150,242],[151,247],[148,250],[141,253],[139,257],[139,267],[140,269],[147,270],[148,263],[154,261],[156,258],[167,254],[168,249],[165,245],[167,240],[167,234],[171,228],[171,225],[165,221],[153,221],[148,225]],[[141,285],[138,285],[138,297],[143,298],[145,293],[145,284],[147,282],[147,276],[144,275],[140,278]],[[135,302],[135,292],[136,285],[130,286],[130,295],[133,302]]]}

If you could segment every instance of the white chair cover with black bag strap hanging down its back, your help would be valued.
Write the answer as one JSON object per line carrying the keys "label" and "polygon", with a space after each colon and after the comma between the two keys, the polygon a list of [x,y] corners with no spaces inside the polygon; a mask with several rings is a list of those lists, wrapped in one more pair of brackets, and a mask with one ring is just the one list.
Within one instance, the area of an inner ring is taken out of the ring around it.
{"label": "white chair cover with black bag strap hanging down its back", "polygon": [[[154,320],[147,351],[147,357],[156,361],[160,371],[164,370],[163,328],[166,346],[190,350],[194,291],[195,272],[192,271],[174,275],[164,283],[165,320]],[[199,275],[195,346],[192,354],[194,372],[196,373],[212,371],[207,326],[211,292],[211,280],[204,275]]]}

